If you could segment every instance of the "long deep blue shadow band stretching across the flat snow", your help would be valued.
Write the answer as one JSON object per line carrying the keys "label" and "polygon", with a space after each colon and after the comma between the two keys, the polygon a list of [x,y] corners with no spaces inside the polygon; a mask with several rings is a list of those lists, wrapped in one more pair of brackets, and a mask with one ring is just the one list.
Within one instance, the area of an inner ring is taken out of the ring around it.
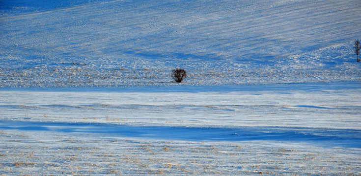
{"label": "long deep blue shadow band stretching across the flat snow", "polygon": [[361,130],[291,127],[172,127],[106,123],[0,121],[0,130],[97,133],[107,137],[187,141],[293,141],[361,148]]}

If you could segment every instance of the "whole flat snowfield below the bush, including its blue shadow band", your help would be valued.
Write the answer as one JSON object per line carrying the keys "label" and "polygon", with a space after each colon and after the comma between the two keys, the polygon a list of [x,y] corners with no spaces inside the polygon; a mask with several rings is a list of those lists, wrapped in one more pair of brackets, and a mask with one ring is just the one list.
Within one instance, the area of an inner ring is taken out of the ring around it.
{"label": "whole flat snowfield below the bush, including its blue shadow band", "polygon": [[359,84],[0,90],[4,175],[360,175]]}

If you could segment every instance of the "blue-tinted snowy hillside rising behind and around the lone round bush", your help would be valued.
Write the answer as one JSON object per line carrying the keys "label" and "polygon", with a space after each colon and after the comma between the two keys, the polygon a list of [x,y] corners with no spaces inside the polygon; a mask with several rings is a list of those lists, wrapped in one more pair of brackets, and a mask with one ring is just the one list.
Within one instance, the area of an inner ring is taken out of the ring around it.
{"label": "blue-tinted snowy hillside rising behind and around the lone round bush", "polygon": [[361,81],[359,0],[0,3],[0,87]]}

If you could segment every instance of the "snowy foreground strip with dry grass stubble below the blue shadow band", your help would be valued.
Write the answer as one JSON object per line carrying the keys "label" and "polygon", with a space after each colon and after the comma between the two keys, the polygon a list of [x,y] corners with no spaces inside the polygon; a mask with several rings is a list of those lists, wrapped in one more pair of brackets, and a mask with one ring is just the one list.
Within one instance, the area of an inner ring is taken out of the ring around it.
{"label": "snowy foreground strip with dry grass stubble below the blue shadow band", "polygon": [[[29,136],[36,139],[36,135]],[[48,141],[45,146],[15,146],[15,141],[4,139],[12,146],[1,149],[9,151],[0,155],[4,163],[0,169],[6,175],[21,175],[20,168],[47,168],[43,175],[357,175],[361,169],[353,164],[360,162],[357,155],[347,155],[348,162],[334,155],[333,149],[264,147],[254,142],[150,142],[77,136]],[[37,174],[31,170],[29,174]]]}

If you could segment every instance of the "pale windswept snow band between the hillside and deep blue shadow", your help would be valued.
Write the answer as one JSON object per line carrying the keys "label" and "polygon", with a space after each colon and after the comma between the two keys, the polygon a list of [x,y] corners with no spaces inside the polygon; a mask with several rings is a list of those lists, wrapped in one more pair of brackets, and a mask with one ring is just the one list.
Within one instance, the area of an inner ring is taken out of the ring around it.
{"label": "pale windswept snow band between the hillside and deep blue shadow", "polygon": [[6,90],[6,120],[361,130],[359,84]]}

